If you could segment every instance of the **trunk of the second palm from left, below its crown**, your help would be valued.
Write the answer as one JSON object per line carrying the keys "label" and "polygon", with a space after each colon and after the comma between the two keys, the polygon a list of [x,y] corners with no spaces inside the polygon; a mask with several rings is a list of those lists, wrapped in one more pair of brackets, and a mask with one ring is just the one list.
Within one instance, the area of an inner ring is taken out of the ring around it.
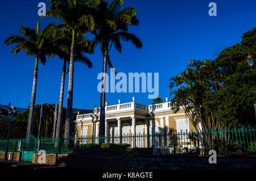
{"label": "trunk of the second palm from left, below its crown", "polygon": [[60,84],[60,99],[59,99],[59,111],[57,117],[57,126],[56,126],[56,138],[59,138],[61,135],[61,121],[63,115],[63,95],[64,95],[64,85],[65,85],[65,73],[66,73],[66,64],[67,60],[64,60],[62,75],[61,75],[61,84]]}

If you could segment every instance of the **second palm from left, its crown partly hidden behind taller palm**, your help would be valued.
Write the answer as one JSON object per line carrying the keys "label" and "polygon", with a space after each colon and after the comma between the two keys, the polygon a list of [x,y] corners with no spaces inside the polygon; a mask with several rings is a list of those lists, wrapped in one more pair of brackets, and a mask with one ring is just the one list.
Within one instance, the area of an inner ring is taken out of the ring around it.
{"label": "second palm from left, its crown partly hidden behind taller palm", "polygon": [[[65,74],[66,74],[66,66],[67,62],[69,62],[69,50],[68,47],[71,45],[72,39],[72,31],[63,31],[61,27],[63,25],[60,24],[59,26],[55,26],[53,23],[51,24],[52,27],[52,44],[53,48],[51,52],[51,57],[58,56],[61,60],[63,59],[63,69],[61,73],[61,86],[60,86],[60,98],[59,98],[59,110],[57,116],[57,126],[56,126],[56,137],[61,136],[61,122],[63,117],[63,95],[64,95],[64,83],[65,83]],[[88,68],[92,68],[92,62],[84,56],[83,52],[89,52],[88,45],[89,41],[85,40],[86,32],[77,33],[76,37],[76,52],[75,52],[75,59],[74,61],[82,62],[86,64]]]}

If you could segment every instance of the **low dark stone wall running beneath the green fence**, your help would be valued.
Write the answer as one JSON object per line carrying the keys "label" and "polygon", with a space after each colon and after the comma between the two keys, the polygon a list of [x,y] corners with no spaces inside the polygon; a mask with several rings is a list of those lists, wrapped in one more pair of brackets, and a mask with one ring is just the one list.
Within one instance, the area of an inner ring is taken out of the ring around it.
{"label": "low dark stone wall running beneath the green fence", "polygon": [[[35,159],[34,159],[35,157]],[[34,153],[33,163],[38,163]],[[210,164],[208,157],[121,157],[107,155],[46,154],[46,164],[73,167],[77,169],[113,170],[177,170],[177,169],[255,169],[256,157],[218,157],[216,164]]]}

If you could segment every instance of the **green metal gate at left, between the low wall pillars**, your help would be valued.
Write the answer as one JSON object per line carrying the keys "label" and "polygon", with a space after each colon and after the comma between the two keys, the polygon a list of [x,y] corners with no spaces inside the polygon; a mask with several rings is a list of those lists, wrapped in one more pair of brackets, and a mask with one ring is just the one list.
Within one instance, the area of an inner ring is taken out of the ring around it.
{"label": "green metal gate at left, between the low wall pillars", "polygon": [[22,141],[21,161],[32,162],[33,153],[36,152],[37,140],[34,136],[27,136]]}

